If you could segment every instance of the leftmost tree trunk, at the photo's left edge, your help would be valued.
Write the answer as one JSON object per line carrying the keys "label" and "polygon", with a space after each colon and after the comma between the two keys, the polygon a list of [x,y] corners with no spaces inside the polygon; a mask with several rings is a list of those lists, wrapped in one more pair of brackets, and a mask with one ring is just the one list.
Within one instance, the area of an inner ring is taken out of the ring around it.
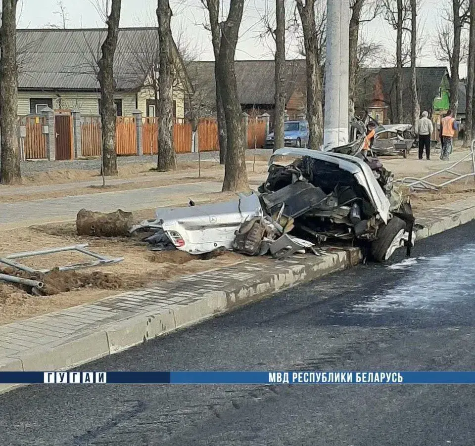
{"label": "leftmost tree trunk, at the photo's left edge", "polygon": [[17,0],[3,0],[2,2],[0,28],[0,182],[2,184],[21,183],[17,123],[16,3]]}

